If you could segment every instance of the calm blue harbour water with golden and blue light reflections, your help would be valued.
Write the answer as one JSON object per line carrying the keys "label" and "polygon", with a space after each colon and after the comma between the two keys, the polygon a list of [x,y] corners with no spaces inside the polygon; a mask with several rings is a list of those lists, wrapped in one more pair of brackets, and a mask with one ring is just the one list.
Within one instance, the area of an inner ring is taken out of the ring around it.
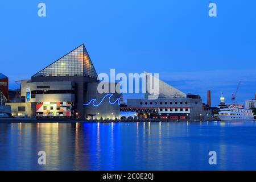
{"label": "calm blue harbour water with golden and blue light reflections", "polygon": [[255,137],[255,122],[0,123],[0,169],[256,170]]}

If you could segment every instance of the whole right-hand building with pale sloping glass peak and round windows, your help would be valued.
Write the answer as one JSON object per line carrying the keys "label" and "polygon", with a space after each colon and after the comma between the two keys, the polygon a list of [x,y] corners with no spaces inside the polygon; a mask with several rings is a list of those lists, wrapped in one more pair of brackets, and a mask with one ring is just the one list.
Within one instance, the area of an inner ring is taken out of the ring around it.
{"label": "whole right-hand building with pale sloping glass peak and round windows", "polygon": [[[166,120],[207,120],[212,119],[210,111],[203,110],[200,96],[185,94],[146,73],[146,88],[158,82],[158,94],[147,92],[143,99],[128,99],[121,106],[121,119],[166,119]],[[128,114],[129,113],[129,114]]]}

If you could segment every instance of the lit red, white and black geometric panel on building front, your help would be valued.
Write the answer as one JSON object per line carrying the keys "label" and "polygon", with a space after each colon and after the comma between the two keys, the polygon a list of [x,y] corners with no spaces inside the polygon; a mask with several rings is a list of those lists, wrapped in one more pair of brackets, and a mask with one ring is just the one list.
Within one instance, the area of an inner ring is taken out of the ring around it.
{"label": "lit red, white and black geometric panel on building front", "polygon": [[73,117],[73,102],[38,102],[36,117]]}

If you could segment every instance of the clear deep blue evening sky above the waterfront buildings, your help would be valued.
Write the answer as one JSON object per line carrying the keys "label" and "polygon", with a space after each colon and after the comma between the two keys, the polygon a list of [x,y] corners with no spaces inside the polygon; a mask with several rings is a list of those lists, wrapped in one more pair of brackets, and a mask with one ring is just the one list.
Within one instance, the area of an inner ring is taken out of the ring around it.
{"label": "clear deep blue evening sky above the waterfront buildings", "polygon": [[[38,16],[46,3],[47,16]],[[208,16],[210,2],[217,17]],[[256,92],[256,1],[1,1],[0,72],[30,78],[85,43],[98,73],[159,73],[162,80],[213,104]],[[133,96],[128,96],[133,97]]]}

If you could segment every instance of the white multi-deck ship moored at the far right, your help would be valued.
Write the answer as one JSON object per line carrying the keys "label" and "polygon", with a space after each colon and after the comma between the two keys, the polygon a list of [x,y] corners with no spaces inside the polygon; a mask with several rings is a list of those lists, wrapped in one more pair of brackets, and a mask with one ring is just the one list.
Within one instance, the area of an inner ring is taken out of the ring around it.
{"label": "white multi-deck ship moored at the far right", "polygon": [[252,110],[237,106],[220,109],[218,117],[221,121],[254,121]]}

